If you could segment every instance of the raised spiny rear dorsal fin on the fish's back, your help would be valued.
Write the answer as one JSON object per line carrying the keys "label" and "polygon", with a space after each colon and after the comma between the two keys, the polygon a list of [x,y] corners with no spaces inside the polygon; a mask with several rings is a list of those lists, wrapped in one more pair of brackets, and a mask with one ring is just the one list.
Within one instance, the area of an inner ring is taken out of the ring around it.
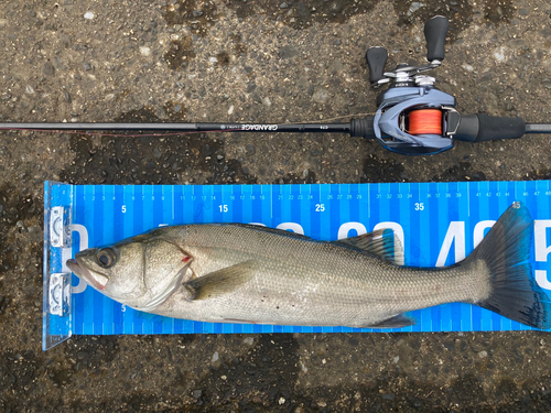
{"label": "raised spiny rear dorsal fin on the fish's back", "polygon": [[378,229],[372,232],[357,237],[350,237],[335,241],[334,243],[352,247],[364,252],[372,253],[393,264],[403,263],[403,247],[395,231],[388,228]]}

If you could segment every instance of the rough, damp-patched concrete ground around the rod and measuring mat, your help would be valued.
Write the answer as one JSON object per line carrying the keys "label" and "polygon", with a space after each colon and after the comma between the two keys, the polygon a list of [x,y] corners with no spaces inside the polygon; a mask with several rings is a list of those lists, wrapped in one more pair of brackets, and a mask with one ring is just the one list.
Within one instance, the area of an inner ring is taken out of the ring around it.
{"label": "rough, damp-patched concrete ground around the rod and measuring mat", "polygon": [[[463,112],[549,121],[543,0],[0,1],[0,121],[318,121],[374,112],[366,50],[424,58]],[[390,67],[390,65],[389,65]],[[544,333],[74,337],[41,349],[43,183],[540,180],[549,138],[404,157],[341,134],[0,133],[0,410],[548,411]]]}

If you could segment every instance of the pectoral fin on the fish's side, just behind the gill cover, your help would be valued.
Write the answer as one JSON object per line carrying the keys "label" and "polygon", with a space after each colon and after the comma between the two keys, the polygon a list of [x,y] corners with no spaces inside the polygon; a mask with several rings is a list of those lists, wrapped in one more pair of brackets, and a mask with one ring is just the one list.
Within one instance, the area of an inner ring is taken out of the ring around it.
{"label": "pectoral fin on the fish's side, just behind the gill cover", "polygon": [[206,275],[190,280],[183,286],[190,292],[188,300],[206,300],[231,293],[247,283],[257,268],[256,261],[244,261]]}

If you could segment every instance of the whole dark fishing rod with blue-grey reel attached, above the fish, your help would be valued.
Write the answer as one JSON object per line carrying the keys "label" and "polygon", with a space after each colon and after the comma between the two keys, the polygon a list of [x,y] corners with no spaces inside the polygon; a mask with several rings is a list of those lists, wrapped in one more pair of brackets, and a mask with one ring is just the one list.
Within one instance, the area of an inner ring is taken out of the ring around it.
{"label": "whole dark fishing rod with blue-grey reel attached, above the fish", "polygon": [[388,52],[371,47],[366,53],[374,89],[388,84],[377,97],[377,112],[345,123],[0,123],[11,130],[139,130],[177,132],[314,132],[349,133],[376,139],[385,149],[406,155],[435,154],[454,141],[485,142],[517,139],[527,133],[551,133],[551,123],[526,123],[521,118],[483,113],[461,115],[455,98],[434,87],[435,78],[421,75],[442,65],[449,21],[442,15],[424,25],[428,64],[399,64],[385,72]]}

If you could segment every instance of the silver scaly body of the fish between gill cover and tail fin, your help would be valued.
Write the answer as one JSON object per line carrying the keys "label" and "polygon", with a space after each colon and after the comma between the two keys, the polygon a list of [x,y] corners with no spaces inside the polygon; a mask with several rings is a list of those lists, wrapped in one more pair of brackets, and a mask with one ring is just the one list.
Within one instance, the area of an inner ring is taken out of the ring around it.
{"label": "silver scaly body of the fish between gill cover and tail fin", "polygon": [[[181,287],[155,313],[206,322],[280,325],[375,325],[449,302],[477,302],[489,292],[485,271],[396,267],[329,242],[245,226],[201,225],[155,231],[192,258],[198,278],[240,263],[242,282],[204,300]],[[239,272],[238,272],[239,274]]]}

